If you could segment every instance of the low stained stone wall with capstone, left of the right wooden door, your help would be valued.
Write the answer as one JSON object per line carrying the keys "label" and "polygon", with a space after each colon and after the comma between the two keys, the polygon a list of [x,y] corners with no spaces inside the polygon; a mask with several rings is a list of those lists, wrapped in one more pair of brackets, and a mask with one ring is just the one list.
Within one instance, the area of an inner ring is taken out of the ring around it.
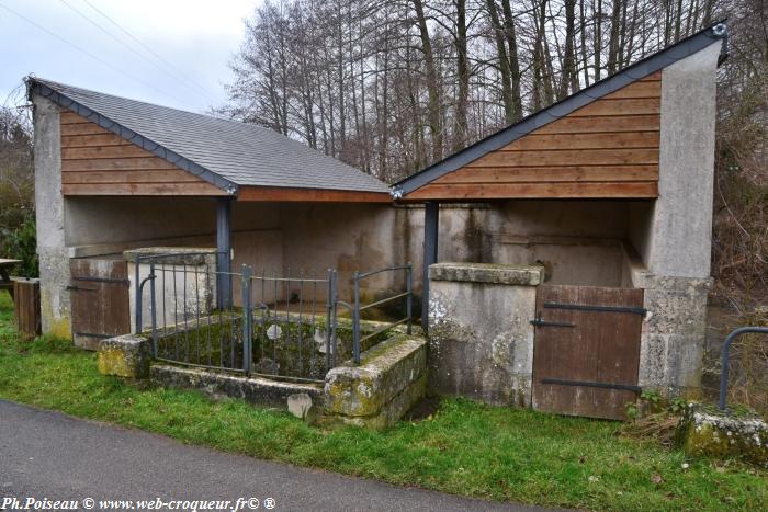
{"label": "low stained stone wall with capstone, left of the right wooden door", "polygon": [[429,388],[496,406],[531,405],[542,266],[429,268]]}

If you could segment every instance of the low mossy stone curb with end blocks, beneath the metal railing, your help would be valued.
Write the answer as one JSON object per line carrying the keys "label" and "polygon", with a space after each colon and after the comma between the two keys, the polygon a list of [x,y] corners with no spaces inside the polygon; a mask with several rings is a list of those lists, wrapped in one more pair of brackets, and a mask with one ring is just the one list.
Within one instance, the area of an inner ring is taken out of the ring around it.
{"label": "low mossy stone curb with end blocks, beneath the metal railing", "polygon": [[325,413],[331,421],[384,429],[397,422],[427,389],[427,342],[408,334],[397,334],[363,352],[360,365],[347,362],[332,368],[325,386],[150,362],[151,341],[142,335],[111,338],[99,345],[98,367],[103,375],[150,378],[165,387],[196,389],[213,398],[287,409],[307,421]]}

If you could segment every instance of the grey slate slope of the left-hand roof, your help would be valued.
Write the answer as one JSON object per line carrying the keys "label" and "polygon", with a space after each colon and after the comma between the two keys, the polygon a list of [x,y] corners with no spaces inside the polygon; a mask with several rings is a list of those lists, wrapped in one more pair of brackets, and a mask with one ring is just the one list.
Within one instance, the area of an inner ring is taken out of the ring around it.
{"label": "grey slate slope of the left-hand roof", "polygon": [[388,193],[387,185],[269,128],[89,91],[36,77],[27,91],[70,109],[214,185]]}

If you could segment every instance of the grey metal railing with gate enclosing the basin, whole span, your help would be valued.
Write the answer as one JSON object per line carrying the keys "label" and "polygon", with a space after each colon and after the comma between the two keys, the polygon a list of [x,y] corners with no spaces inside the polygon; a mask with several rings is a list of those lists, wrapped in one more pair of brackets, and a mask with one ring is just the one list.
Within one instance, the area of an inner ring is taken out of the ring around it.
{"label": "grey metal railing with gate enclosing the basin, whole span", "polygon": [[[351,355],[359,364],[361,346],[394,326],[407,322],[408,333],[411,331],[410,264],[355,272],[350,304],[338,297],[336,270],[323,275],[292,275],[289,270],[285,276],[275,276],[242,265],[240,272],[219,272],[217,255],[179,252],[136,259],[135,326],[137,332],[151,335],[155,359],[272,378],[323,382],[341,357]],[[361,283],[392,272],[405,272],[406,291],[363,305]],[[230,294],[226,300],[218,297],[223,280]],[[405,317],[363,326],[366,310],[395,300],[405,300]],[[351,326],[339,326],[339,305],[350,310]]]}

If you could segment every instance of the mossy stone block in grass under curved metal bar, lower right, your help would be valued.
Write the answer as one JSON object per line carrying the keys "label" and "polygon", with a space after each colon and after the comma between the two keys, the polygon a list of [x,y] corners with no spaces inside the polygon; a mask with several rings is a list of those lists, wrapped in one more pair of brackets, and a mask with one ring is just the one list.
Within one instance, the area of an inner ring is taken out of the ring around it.
{"label": "mossy stone block in grass under curved metal bar, lower right", "polygon": [[768,467],[768,424],[750,412],[727,413],[691,403],[676,441],[689,456],[738,457]]}

